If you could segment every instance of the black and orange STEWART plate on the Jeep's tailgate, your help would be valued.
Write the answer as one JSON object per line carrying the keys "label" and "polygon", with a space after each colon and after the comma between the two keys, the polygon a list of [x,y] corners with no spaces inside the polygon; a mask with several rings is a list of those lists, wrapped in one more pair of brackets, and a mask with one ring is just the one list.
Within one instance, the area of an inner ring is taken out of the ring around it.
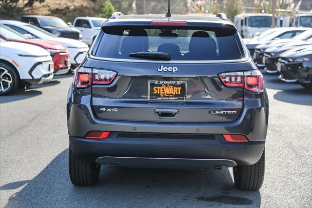
{"label": "black and orange STEWART plate on the Jeep's tailgate", "polygon": [[185,81],[148,81],[149,100],[186,100]]}

